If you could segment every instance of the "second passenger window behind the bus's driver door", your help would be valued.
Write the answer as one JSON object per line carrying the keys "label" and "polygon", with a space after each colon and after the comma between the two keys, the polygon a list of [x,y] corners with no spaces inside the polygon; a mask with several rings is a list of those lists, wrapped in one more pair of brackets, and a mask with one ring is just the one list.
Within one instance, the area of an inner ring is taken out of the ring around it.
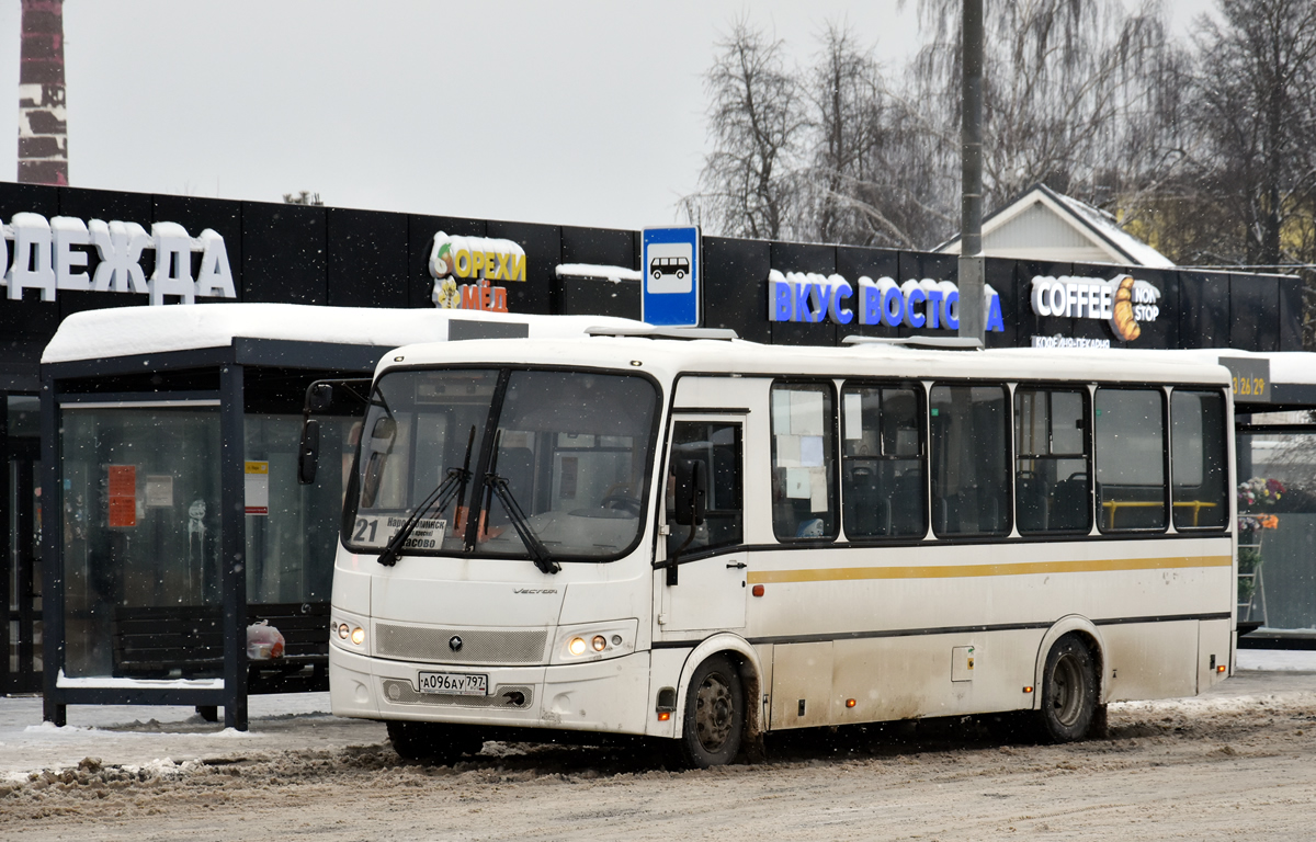
{"label": "second passenger window behind the bus's driver door", "polygon": [[841,514],[848,538],[924,535],[921,388],[846,384],[841,399]]}

